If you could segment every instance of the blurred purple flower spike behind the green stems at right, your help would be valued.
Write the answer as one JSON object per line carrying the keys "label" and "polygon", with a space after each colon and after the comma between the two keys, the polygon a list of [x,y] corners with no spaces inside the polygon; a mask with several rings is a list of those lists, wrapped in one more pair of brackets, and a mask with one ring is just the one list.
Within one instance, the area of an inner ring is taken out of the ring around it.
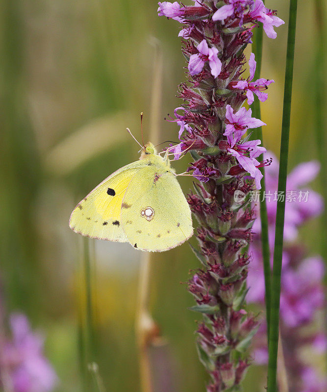
{"label": "blurred purple flower spike behind the green stems at right", "polygon": [[[272,154],[269,153],[271,156]],[[316,374],[312,365],[301,355],[304,347],[311,347],[315,353],[326,347],[326,337],[319,330],[317,316],[324,306],[324,262],[320,256],[304,257],[305,249],[297,241],[298,228],[309,218],[323,210],[320,195],[306,189],[302,198],[302,186],[313,180],[319,171],[315,161],[298,165],[287,178],[287,195],[291,195],[285,206],[284,245],[280,296],[280,334],[283,343],[285,366],[290,392],[323,392],[326,381]],[[266,170],[266,197],[270,233],[275,232],[278,162]],[[294,197],[295,196],[295,197]],[[258,211],[259,212],[259,211]],[[248,273],[248,301],[264,302],[264,273],[261,258],[260,224],[253,225],[256,232],[250,245],[253,261]],[[274,237],[270,236],[271,250]],[[272,252],[271,252],[272,253]],[[271,258],[271,264],[273,260]],[[254,359],[258,364],[268,361],[266,326],[263,323],[254,344]]]}

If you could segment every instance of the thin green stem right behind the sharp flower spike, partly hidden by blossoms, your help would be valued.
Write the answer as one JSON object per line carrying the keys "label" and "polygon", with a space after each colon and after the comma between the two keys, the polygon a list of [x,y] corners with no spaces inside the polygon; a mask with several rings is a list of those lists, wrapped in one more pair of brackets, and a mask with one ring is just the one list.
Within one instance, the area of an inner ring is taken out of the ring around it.
{"label": "thin green stem right behind the sharp flower spike, partly hidden by blossoms", "polygon": [[[260,77],[261,62],[262,62],[262,35],[263,28],[260,24],[253,33],[253,45],[252,51],[255,54],[256,69],[254,74],[254,80]],[[253,117],[261,119],[260,111],[260,101],[255,97],[253,102]],[[262,127],[258,127],[253,130],[253,139],[260,139],[263,145],[263,135]],[[263,161],[263,154],[258,158],[259,162]],[[265,170],[260,168],[263,175],[261,180],[261,190],[260,190],[260,221],[261,221],[261,249],[262,249],[262,260],[263,260],[263,270],[265,275],[265,300],[266,300],[266,319],[267,319],[267,337],[269,341],[270,332],[270,303],[271,303],[271,270],[270,270],[270,249],[269,249],[269,239],[268,239],[268,216],[267,216],[267,205],[266,199],[263,197],[266,193],[265,184]]]}

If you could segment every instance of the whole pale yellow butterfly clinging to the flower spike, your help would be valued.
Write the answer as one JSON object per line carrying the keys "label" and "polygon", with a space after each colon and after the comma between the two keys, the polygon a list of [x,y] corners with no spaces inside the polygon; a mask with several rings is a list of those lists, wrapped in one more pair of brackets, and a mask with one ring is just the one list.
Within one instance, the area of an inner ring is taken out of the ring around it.
{"label": "whole pale yellow butterfly clinging to the flower spike", "polygon": [[170,166],[151,143],[139,161],[111,174],[75,207],[70,227],[87,237],[165,251],[193,235],[189,205]]}

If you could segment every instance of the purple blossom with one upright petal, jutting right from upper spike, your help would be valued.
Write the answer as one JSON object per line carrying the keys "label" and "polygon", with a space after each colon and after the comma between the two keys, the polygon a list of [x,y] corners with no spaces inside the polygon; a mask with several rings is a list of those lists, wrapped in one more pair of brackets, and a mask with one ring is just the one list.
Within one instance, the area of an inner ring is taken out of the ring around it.
{"label": "purple blossom with one upright petal, jutting right from upper spike", "polygon": [[275,80],[267,80],[260,78],[252,82],[254,78],[256,61],[254,60],[254,53],[251,53],[249,60],[250,77],[247,80],[239,80],[238,82],[229,83],[229,88],[240,89],[246,91],[248,97],[248,104],[251,105],[254,100],[253,93],[259,98],[261,102],[264,102],[268,98],[268,94],[264,93],[271,83],[275,83]]}

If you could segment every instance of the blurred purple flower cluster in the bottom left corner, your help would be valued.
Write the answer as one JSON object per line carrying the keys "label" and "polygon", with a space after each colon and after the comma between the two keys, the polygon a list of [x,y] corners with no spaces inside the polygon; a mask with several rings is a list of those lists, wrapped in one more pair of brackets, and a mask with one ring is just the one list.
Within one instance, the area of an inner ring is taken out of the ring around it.
{"label": "blurred purple flower cluster in the bottom left corner", "polygon": [[43,339],[30,330],[22,314],[10,317],[12,339],[5,343],[1,363],[10,369],[14,392],[50,392],[57,376],[43,354]]}

